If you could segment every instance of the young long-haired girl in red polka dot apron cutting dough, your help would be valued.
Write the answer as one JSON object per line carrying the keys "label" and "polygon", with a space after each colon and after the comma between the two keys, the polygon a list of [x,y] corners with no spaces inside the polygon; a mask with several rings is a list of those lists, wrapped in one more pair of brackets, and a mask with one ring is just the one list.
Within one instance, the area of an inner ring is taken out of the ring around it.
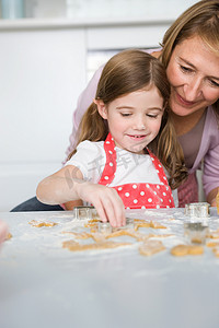
{"label": "young long-haired girl in red polka dot apron cutting dough", "polygon": [[65,167],[39,183],[38,200],[68,210],[83,200],[113,226],[125,224],[125,208],[174,207],[171,188],[187,171],[168,115],[169,96],[158,59],[140,50],[111,58],[81,121],[77,149]]}

